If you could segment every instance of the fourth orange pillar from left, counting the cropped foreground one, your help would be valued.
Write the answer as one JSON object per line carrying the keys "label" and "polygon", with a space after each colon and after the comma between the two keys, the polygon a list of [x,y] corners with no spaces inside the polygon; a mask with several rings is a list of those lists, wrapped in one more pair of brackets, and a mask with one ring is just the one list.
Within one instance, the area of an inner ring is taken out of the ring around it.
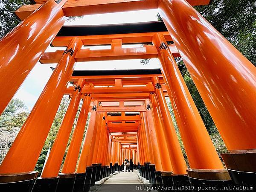
{"label": "fourth orange pillar from left, counting the cropped foreground one", "polygon": [[81,111],[76,122],[76,128],[72,135],[61,173],[74,173],[76,171],[76,163],[79,156],[80,146],[83,140],[84,129],[89,113],[90,101],[91,97],[89,95],[84,95]]}

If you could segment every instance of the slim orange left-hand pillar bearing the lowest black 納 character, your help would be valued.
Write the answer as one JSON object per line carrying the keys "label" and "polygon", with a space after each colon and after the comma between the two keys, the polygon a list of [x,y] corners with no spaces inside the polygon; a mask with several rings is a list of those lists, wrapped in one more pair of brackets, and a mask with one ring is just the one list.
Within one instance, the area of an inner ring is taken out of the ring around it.
{"label": "slim orange left-hand pillar bearing the lowest black \u7d0d character", "polygon": [[[99,101],[95,100],[93,104],[98,106]],[[82,147],[78,165],[76,168],[77,173],[84,173],[86,166],[88,165],[88,156],[90,153],[92,153],[90,148],[93,140],[93,133],[95,132],[96,115],[97,115],[97,111],[91,111],[90,120],[89,120],[86,134],[84,137],[83,147]]]}

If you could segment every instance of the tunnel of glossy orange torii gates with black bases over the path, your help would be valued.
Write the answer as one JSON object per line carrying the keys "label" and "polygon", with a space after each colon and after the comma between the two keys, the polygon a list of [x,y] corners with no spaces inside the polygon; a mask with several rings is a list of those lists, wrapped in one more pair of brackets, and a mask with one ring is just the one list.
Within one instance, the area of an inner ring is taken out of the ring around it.
{"label": "tunnel of glossy orange torii gates with black bases over the path", "polygon": [[[256,68],[193,8],[209,0],[33,3],[17,9],[22,22],[0,40],[0,113],[38,61],[58,64],[0,165],[1,191],[93,191],[121,172],[123,160],[130,158],[138,177],[152,186],[255,182]],[[145,9],[158,9],[163,21],[63,26],[68,16]],[[49,45],[67,48],[45,52]],[[82,49],[92,45],[111,49]],[[227,146],[229,152],[221,154],[225,168],[174,57],[183,59]],[[81,61],[143,58],[158,58],[160,69],[74,71]],[[68,82],[74,86],[67,87]],[[35,165],[64,94],[70,95],[70,103],[38,177]],[[165,97],[170,99],[189,167]]]}

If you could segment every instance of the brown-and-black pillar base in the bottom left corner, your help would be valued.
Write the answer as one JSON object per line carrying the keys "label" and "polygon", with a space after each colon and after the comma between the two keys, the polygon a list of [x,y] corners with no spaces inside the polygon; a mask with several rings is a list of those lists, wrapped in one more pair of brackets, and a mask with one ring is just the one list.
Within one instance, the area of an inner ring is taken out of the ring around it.
{"label": "brown-and-black pillar base in the bottom left corner", "polygon": [[0,175],[1,191],[31,192],[38,172],[28,172],[14,175]]}

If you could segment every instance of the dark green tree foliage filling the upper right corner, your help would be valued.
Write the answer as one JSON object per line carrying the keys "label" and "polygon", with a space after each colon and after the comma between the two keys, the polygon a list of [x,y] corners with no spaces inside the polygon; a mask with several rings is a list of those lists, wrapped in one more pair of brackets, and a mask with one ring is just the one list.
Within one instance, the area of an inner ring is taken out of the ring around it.
{"label": "dark green tree foliage filling the upper right corner", "polygon": [[213,0],[211,5],[195,8],[256,65],[255,0]]}

